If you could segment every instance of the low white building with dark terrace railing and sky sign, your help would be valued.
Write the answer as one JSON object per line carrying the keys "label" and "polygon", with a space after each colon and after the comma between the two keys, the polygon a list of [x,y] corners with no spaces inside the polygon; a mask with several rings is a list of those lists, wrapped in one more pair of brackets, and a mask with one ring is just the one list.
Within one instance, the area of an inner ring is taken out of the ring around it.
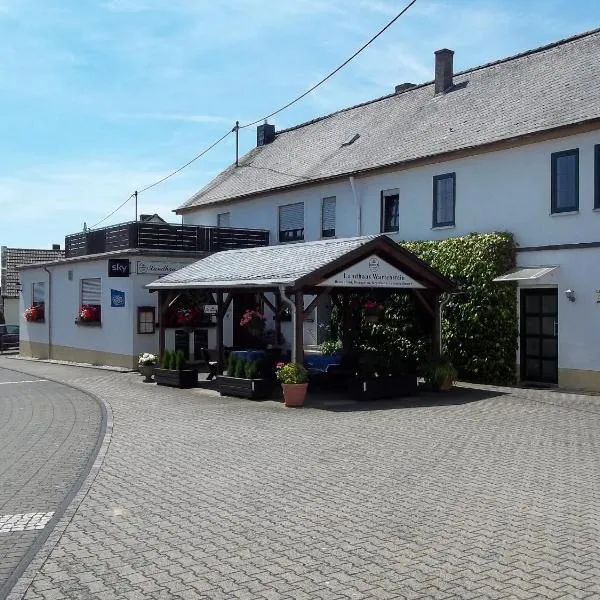
{"label": "low white building with dark terrace railing and sky sign", "polygon": [[[139,354],[158,351],[157,294],[146,284],[214,251],[266,244],[264,231],[150,220],[67,236],[65,258],[20,269],[20,354],[136,368]],[[200,350],[215,347],[214,318],[173,322],[166,342],[202,360]]]}

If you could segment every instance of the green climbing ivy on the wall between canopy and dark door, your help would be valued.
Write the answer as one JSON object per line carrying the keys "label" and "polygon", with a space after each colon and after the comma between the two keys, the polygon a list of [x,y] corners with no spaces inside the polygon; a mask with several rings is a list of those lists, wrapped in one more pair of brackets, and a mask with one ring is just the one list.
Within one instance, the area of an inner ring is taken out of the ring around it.
{"label": "green climbing ivy on the wall between canopy and dark door", "polygon": [[401,245],[451,278],[464,292],[452,296],[445,305],[442,324],[444,351],[458,369],[459,378],[514,383],[518,335],[515,285],[492,281],[515,265],[513,236],[471,234]]}

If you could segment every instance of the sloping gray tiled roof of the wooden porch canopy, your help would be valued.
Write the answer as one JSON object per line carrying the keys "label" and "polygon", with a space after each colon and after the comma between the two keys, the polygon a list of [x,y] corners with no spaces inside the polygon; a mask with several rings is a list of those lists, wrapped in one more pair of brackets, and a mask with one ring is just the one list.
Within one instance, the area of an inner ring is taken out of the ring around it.
{"label": "sloping gray tiled roof of the wooden porch canopy", "polygon": [[378,236],[216,252],[153,281],[152,289],[290,285]]}

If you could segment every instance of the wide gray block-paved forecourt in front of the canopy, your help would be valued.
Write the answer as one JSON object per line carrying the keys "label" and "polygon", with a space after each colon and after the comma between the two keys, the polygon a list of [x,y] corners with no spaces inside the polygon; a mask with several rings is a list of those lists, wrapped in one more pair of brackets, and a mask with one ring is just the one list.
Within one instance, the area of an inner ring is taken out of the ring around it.
{"label": "wide gray block-paved forecourt in front of the canopy", "polygon": [[600,398],[293,410],[18,362],[114,416],[28,600],[600,597]]}

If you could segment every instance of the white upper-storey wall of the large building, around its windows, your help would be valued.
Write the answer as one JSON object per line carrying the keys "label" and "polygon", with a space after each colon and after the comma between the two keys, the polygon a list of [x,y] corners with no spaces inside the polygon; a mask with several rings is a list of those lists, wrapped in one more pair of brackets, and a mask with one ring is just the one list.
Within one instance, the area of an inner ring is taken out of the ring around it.
{"label": "white upper-storey wall of the large building, around its windows", "polygon": [[[600,130],[517,148],[356,178],[362,203],[362,233],[380,229],[380,193],[400,192],[399,239],[442,239],[473,231],[510,231],[522,246],[598,239],[600,211],[594,211],[594,145]],[[579,213],[550,215],[551,154],[579,148]],[[456,226],[432,229],[433,176],[456,173]],[[217,213],[231,212],[232,227],[265,228],[278,243],[279,205],[304,202],[305,241],[320,238],[321,199],[337,197],[336,235],[357,235],[349,180],[199,208],[185,223],[216,225]]]}

